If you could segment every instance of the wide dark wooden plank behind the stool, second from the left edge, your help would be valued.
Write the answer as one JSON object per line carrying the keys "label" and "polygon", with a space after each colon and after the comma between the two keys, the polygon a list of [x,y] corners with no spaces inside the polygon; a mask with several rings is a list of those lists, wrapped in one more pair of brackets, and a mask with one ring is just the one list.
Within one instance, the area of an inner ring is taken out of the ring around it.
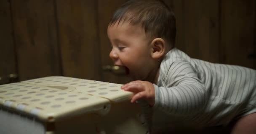
{"label": "wide dark wooden plank behind the stool, second from the left edge", "polygon": [[21,80],[61,75],[53,0],[12,0]]}

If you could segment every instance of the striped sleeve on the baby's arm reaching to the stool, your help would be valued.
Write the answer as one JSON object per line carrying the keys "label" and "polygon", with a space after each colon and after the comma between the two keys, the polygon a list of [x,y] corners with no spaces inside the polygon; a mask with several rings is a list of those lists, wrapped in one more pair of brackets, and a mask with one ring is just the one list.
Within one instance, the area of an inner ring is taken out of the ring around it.
{"label": "striped sleeve on the baby's arm reaching to the stool", "polygon": [[207,102],[205,85],[189,62],[165,62],[163,86],[155,86],[154,107],[172,115],[189,116],[199,113]]}

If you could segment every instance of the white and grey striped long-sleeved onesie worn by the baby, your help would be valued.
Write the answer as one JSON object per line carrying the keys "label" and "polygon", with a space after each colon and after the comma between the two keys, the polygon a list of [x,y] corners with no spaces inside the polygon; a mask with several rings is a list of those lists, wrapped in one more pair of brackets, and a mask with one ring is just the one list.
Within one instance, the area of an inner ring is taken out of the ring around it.
{"label": "white and grey striped long-sleeved onesie worn by the baby", "polygon": [[256,70],[193,59],[176,48],[165,55],[154,86],[153,113],[145,111],[152,129],[225,126],[256,112]]}

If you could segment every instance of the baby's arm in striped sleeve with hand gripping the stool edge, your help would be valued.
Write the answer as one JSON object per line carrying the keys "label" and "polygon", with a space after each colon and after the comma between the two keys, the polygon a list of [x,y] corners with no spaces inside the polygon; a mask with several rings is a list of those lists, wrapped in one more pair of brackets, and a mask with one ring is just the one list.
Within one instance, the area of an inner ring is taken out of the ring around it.
{"label": "baby's arm in striped sleeve with hand gripping the stool edge", "polygon": [[173,62],[163,75],[163,87],[147,81],[133,81],[123,85],[122,89],[135,93],[132,103],[144,99],[150,106],[171,114],[194,114],[205,106],[208,99],[205,86],[191,64],[185,61]]}

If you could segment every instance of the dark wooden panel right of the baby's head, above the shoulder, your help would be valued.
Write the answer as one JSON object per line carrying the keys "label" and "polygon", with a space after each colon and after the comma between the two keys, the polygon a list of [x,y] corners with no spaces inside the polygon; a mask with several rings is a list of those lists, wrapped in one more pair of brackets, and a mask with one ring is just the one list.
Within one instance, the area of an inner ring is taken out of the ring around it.
{"label": "dark wooden panel right of the baby's head, above the shoulder", "polygon": [[176,15],[176,47],[190,57],[219,62],[219,1],[171,1]]}

